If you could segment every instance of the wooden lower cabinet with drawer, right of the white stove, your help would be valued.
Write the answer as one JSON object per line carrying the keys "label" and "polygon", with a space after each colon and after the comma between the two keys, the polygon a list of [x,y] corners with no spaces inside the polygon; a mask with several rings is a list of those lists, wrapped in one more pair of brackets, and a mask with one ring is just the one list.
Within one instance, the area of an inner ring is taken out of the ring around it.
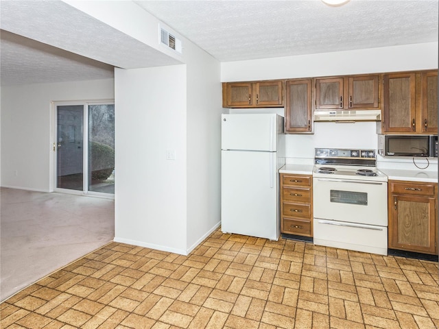
{"label": "wooden lower cabinet with drawer, right of the white stove", "polygon": [[388,188],[389,248],[437,255],[438,184],[390,180]]}

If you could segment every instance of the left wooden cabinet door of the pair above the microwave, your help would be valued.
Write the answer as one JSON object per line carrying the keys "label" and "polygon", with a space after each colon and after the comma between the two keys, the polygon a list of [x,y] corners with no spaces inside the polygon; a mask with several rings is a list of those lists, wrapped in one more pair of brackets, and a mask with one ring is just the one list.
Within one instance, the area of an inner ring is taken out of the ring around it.
{"label": "left wooden cabinet door of the pair above the microwave", "polygon": [[384,132],[414,133],[415,73],[384,75]]}

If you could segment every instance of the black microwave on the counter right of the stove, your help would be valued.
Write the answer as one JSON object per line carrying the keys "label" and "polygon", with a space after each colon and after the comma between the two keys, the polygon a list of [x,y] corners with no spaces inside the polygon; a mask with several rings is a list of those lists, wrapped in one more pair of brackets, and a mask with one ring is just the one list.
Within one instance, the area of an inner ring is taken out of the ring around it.
{"label": "black microwave on the counter right of the stove", "polygon": [[378,135],[381,156],[438,157],[437,135]]}

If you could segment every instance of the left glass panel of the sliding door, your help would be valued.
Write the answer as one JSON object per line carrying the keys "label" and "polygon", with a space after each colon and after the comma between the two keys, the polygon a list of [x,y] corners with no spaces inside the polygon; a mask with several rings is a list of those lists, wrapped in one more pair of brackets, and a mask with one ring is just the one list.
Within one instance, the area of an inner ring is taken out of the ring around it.
{"label": "left glass panel of the sliding door", "polygon": [[84,186],[84,106],[56,107],[56,187]]}

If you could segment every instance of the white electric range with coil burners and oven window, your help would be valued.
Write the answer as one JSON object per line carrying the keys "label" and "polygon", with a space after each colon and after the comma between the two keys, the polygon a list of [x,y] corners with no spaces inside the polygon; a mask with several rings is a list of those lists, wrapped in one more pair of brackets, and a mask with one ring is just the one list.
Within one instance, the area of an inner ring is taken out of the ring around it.
{"label": "white electric range with coil burners and oven window", "polygon": [[387,254],[387,176],[372,149],[315,149],[313,242]]}

